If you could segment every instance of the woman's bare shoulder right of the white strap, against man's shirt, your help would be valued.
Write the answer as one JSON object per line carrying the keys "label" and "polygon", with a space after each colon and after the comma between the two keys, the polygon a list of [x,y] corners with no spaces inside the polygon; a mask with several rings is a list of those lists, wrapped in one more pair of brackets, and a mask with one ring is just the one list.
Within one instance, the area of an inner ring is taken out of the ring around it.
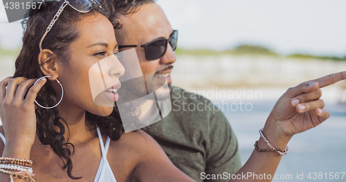
{"label": "woman's bare shoulder right of the white strap, against man's shirt", "polygon": [[[112,158],[112,161],[110,161],[114,173],[118,172],[117,169],[125,169],[125,172],[122,173],[124,176],[120,176],[120,173],[118,173],[118,179],[143,179],[143,181],[156,179],[156,181],[165,181],[169,178],[170,181],[173,181],[178,177],[179,179],[192,181],[173,165],[156,140],[145,131],[138,129],[123,134],[118,142],[123,143],[122,147],[126,150],[121,154],[113,153],[112,157],[116,156],[116,158]],[[113,145],[112,147],[116,149],[117,146]]]}

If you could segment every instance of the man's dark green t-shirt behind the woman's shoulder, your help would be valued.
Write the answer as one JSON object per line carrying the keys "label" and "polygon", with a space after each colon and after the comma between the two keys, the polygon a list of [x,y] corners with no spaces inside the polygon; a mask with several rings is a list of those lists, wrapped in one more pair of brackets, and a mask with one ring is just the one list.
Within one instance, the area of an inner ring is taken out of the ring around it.
{"label": "man's dark green t-shirt behind the woman's shoulder", "polygon": [[172,87],[171,98],[168,116],[143,131],[195,181],[229,181],[204,179],[207,174],[232,175],[242,167],[237,138],[224,114],[215,110],[210,100],[178,87]]}

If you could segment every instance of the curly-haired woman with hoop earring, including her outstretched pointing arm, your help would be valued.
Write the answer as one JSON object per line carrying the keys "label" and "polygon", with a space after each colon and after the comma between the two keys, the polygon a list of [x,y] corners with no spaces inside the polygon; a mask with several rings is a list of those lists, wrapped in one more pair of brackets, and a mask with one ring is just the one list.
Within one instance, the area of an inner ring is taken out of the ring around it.
{"label": "curly-haired woman with hoop earring, including her outstretched pointing arm", "polygon": [[[78,6],[79,1],[71,5]],[[123,134],[116,109],[94,103],[90,68],[112,57],[115,66],[106,73],[116,81],[124,69],[113,56],[118,52],[116,38],[104,11],[98,4],[91,10],[73,6],[54,1],[44,12],[29,12],[15,75],[0,82],[2,156],[33,161],[35,181],[193,181],[143,131]],[[52,19],[55,23],[48,31]],[[268,142],[284,149],[294,134],[329,117],[319,100],[320,87],[346,78],[346,73],[331,78],[333,82],[322,78],[302,83],[280,98],[264,126]],[[264,137],[257,147],[270,149]],[[273,175],[280,158],[276,152],[254,151],[237,174]],[[0,172],[0,182],[15,177],[16,170],[6,171]],[[14,181],[25,179],[17,176]]]}

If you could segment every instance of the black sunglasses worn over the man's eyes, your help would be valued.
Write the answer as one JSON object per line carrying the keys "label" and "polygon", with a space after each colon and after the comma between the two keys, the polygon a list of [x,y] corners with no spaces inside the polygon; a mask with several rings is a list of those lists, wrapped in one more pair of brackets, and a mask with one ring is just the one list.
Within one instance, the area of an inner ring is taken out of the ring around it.
{"label": "black sunglasses worn over the man's eyes", "polygon": [[143,45],[129,45],[129,46],[119,46],[119,48],[127,47],[143,47],[145,50],[145,58],[148,61],[157,60],[163,57],[167,51],[167,45],[170,42],[172,50],[176,50],[176,43],[178,42],[178,30],[173,30],[173,33],[170,35],[170,38],[159,38],[152,42],[148,42]]}

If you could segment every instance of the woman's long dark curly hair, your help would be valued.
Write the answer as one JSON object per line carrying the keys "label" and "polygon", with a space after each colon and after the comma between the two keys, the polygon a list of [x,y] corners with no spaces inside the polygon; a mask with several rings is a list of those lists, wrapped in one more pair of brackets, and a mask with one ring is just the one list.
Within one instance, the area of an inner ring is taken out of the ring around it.
{"label": "woman's long dark curly hair", "polygon": [[[24,28],[23,47],[15,62],[15,75],[13,78],[24,77],[34,79],[44,76],[40,66],[49,62],[51,58],[48,57],[43,64],[39,64],[39,42],[62,3],[64,1],[43,1],[42,8],[30,9],[26,13],[26,19],[22,21]],[[97,13],[101,13],[109,18],[109,7],[102,4],[102,8],[93,6],[90,12],[82,13],[66,6],[53,28],[51,28],[51,31],[46,35],[42,48],[53,51],[57,60],[69,64],[69,45],[75,39],[78,39],[79,36],[75,25],[82,17],[96,15]],[[44,84],[37,94],[36,100],[45,107],[53,106],[57,102],[57,95],[49,82]],[[64,138],[66,129],[63,123],[65,125],[67,123],[64,118],[60,117],[59,110],[57,108],[43,109],[35,105],[35,112],[37,118],[36,131],[39,141],[43,145],[49,145],[55,154],[62,159],[64,162],[62,169],[67,170],[71,179],[80,179],[81,177],[75,177],[71,174],[73,167],[71,154],[73,154],[74,146],[72,143],[69,143],[69,138]],[[129,115],[134,116],[133,113],[129,113]],[[107,134],[111,140],[118,140],[124,132],[116,106],[111,115],[107,117],[96,116],[86,111],[86,125],[90,126],[89,128],[100,127],[102,133]],[[67,129],[69,130],[69,127]]]}

